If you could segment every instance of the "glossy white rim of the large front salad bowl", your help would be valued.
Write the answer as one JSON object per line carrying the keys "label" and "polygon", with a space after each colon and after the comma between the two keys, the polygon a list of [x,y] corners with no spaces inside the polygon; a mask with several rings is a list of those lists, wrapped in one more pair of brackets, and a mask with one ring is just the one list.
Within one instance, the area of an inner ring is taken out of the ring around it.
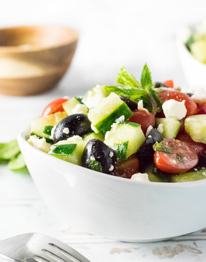
{"label": "glossy white rim of the large front salad bowl", "polygon": [[[44,158],[51,158],[52,156],[35,148],[34,146],[32,146],[31,144],[29,144],[27,141],[26,141],[26,135],[30,134],[30,129],[27,128],[25,131],[19,133],[17,135],[17,140],[18,140],[18,143],[23,143],[25,146],[28,146],[30,148],[30,150],[34,150],[36,151],[38,154],[42,155],[42,157]],[[54,158],[54,157],[53,157]],[[55,158],[53,159],[53,162],[57,162],[59,164],[62,163],[62,159],[59,159],[59,158]],[[102,179],[110,179],[111,181],[116,181],[116,182],[123,182],[124,183],[127,183],[128,185],[145,185],[145,186],[149,186],[149,187],[154,187],[154,186],[161,186],[163,188],[163,186],[166,186],[166,187],[193,187],[193,186],[200,186],[200,185],[205,185],[206,184],[206,178],[205,179],[201,179],[201,180],[196,180],[196,181],[189,181],[189,182],[177,182],[177,183],[169,183],[169,182],[151,182],[151,181],[137,181],[137,180],[133,180],[133,179],[125,179],[125,178],[122,178],[122,177],[118,177],[118,176],[114,176],[114,175],[107,175],[107,174],[104,174],[104,173],[101,173],[101,172],[98,172],[98,171],[95,171],[95,170],[91,170],[91,169],[88,169],[88,168],[85,168],[85,167],[82,167],[82,166],[79,166],[79,165],[76,165],[76,164],[73,164],[73,163],[70,163],[70,162],[66,162],[64,161],[65,163],[68,163],[68,165],[75,165],[75,166],[78,166],[78,168],[82,169],[82,170],[89,170],[89,173],[91,174],[96,174],[98,175],[99,177],[101,177]]]}

